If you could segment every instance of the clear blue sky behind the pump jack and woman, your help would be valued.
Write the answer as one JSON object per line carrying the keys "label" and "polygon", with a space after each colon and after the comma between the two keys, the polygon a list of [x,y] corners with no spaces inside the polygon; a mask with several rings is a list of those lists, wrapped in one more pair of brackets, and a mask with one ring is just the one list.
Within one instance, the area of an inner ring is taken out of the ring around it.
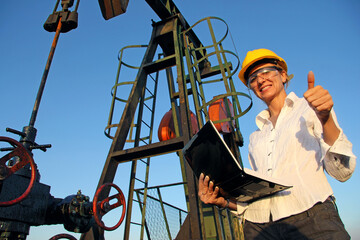
{"label": "clear blue sky behind the pump jack and woman", "polygon": [[[319,1],[175,1],[190,25],[216,16],[231,31],[231,50],[242,60],[249,50],[269,48],[288,63],[294,74],[288,92],[301,96],[307,88],[307,73],[315,74],[315,84],[328,89],[340,126],[359,155],[360,129],[360,3],[356,0]],[[6,127],[21,130],[29,124],[41,76],[54,33],[42,25],[55,1],[6,1],[0,9],[0,136],[18,139]],[[147,44],[151,19],[158,16],[145,1],[129,2],[127,12],[105,21],[97,1],[81,1],[79,26],[60,35],[45,86],[35,127],[38,144],[52,144],[46,153],[34,151],[41,182],[51,186],[55,197],[66,197],[81,189],[93,197],[111,140],[104,135],[117,71],[118,51],[128,45]],[[232,45],[232,42],[234,45]],[[235,49],[235,50],[234,50]],[[138,62],[141,55],[131,59]],[[235,78],[238,91],[247,92]],[[220,94],[217,89],[209,95]],[[126,97],[128,92],[124,92]],[[169,109],[168,95],[161,91],[157,123]],[[240,119],[245,145],[255,130],[254,117],[264,109],[254,100],[252,110]],[[247,149],[241,149],[245,166]],[[118,168],[115,183],[124,191],[129,181],[129,164]],[[166,171],[165,171],[166,170]],[[176,155],[153,160],[153,185],[181,181]],[[357,199],[360,176],[357,167],[345,183],[329,178],[346,228],[360,239],[360,209]],[[177,199],[182,199],[178,196]],[[169,197],[169,201],[171,198]],[[180,205],[183,203],[179,203]],[[111,221],[111,220],[109,220]],[[123,227],[123,226],[122,226]],[[122,227],[106,233],[106,239],[122,236]],[[62,226],[33,227],[29,240],[49,239],[66,232]],[[78,234],[73,234],[79,238]],[[136,238],[134,238],[136,239]]]}

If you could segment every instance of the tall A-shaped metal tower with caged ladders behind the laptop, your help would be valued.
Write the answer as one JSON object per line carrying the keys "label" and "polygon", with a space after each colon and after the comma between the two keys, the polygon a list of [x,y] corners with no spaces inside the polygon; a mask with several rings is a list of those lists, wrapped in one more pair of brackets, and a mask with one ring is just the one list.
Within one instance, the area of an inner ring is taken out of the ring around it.
{"label": "tall A-shaped metal tower with caged ladders behind the laptop", "polygon": [[[232,131],[224,134],[224,140],[242,164],[239,146],[242,146],[243,140],[238,118],[251,108],[251,98],[247,94],[237,92],[232,80],[232,76],[238,70],[239,60],[237,54],[223,47],[223,41],[229,33],[227,25],[219,18],[209,17],[189,26],[176,6],[171,5],[173,4],[171,1],[170,7],[162,5],[160,1],[148,1],[148,3],[157,11],[162,21],[152,24],[153,32],[149,44],[125,47],[119,53],[119,69],[112,89],[113,101],[105,130],[105,134],[113,139],[113,143],[99,180],[99,186],[106,182],[113,182],[118,165],[131,161],[124,239],[129,239],[134,224],[141,227],[139,239],[240,239],[239,222],[235,216],[229,211],[220,211],[199,201],[196,176],[193,175],[181,153],[181,149],[193,134],[190,108],[194,109],[198,127],[201,128],[209,120],[208,106],[224,98],[232,103],[226,104],[227,112],[234,114],[229,114],[228,118],[218,122],[231,123]],[[213,21],[225,24],[226,31],[223,36],[216,36],[213,31]],[[208,26],[211,36],[211,43],[208,45],[204,45],[194,31],[195,27],[203,23]],[[136,47],[146,50],[139,66],[132,66],[123,61],[123,54],[124,50]],[[231,63],[228,60],[229,55],[237,59],[237,62]],[[124,68],[137,71],[134,80],[120,79],[120,70]],[[156,101],[159,101],[157,86],[161,73],[165,73],[166,76],[165,81],[170,96],[168,101],[171,105],[176,137],[154,142],[155,107]],[[127,99],[123,97],[124,92],[120,90],[124,86],[131,88]],[[206,96],[208,87],[219,87],[223,93],[216,97]],[[239,96],[250,99],[250,104],[245,110],[240,106]],[[120,109],[121,119],[117,123],[114,112],[119,111],[116,106],[120,102],[125,106]],[[112,129],[116,129],[114,134],[111,132]],[[133,147],[124,149],[125,143],[129,142],[133,143]],[[180,210],[176,206],[163,202],[160,186],[148,186],[152,157],[172,152],[177,152],[179,155],[183,181],[164,184],[183,186],[187,210]],[[140,164],[144,167],[139,168]],[[136,189],[135,185],[142,185],[142,187]],[[156,193],[153,192],[154,189]],[[108,194],[105,191],[99,198],[106,198]],[[135,203],[141,211],[140,222],[132,221]],[[177,215],[175,223],[169,221],[170,213],[166,210],[168,208],[181,212]],[[183,213],[186,213],[184,219]],[[157,223],[153,220],[154,218],[160,222]],[[103,239],[103,233],[94,225],[89,232],[82,235],[81,239]]]}

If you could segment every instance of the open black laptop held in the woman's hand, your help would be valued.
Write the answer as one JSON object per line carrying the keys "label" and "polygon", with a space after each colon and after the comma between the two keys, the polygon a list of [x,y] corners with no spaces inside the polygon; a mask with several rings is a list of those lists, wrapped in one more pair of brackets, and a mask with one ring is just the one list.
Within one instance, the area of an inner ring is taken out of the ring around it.
{"label": "open black laptop held in the woman's hand", "polygon": [[242,169],[212,121],[193,136],[182,152],[196,177],[204,173],[224,197],[239,202],[252,202],[291,187],[253,170]]}

